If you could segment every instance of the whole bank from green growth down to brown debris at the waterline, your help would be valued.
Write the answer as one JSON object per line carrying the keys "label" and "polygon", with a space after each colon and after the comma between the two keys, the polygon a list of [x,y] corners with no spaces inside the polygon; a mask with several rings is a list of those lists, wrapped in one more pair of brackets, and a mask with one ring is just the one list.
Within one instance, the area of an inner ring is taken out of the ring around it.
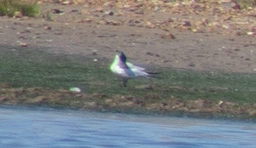
{"label": "whole bank from green growth down to brown debris at the waterline", "polygon": [[[86,58],[49,54],[47,49],[36,47],[0,48],[2,104],[126,111],[137,108],[157,112],[192,110],[191,115],[200,115],[203,110],[207,115],[248,113],[247,117],[255,117],[254,74],[152,68],[163,72],[161,78],[129,80],[128,87],[122,88],[121,81],[108,70],[111,61],[97,55]],[[72,87],[81,88],[82,93],[71,93],[68,90]],[[250,110],[243,112],[246,108]]]}

